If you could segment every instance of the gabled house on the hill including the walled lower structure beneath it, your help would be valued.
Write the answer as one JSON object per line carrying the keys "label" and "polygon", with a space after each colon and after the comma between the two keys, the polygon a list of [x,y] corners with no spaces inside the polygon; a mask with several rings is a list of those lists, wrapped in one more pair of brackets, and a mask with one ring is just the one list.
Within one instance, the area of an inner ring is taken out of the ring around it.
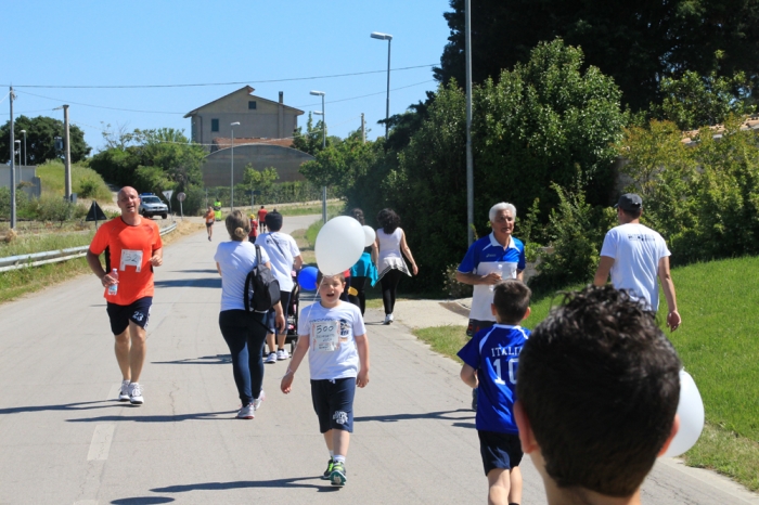
{"label": "gabled house on the hill including the walled lower structure beneath it", "polygon": [[252,94],[249,86],[221,96],[184,117],[192,121],[192,141],[209,152],[203,167],[206,186],[229,185],[234,126],[234,183],[243,181],[248,164],[257,170],[276,168],[279,181],[298,181],[298,168],[313,156],[291,148],[293,132],[303,111],[285,105],[280,91],[279,102]]}

